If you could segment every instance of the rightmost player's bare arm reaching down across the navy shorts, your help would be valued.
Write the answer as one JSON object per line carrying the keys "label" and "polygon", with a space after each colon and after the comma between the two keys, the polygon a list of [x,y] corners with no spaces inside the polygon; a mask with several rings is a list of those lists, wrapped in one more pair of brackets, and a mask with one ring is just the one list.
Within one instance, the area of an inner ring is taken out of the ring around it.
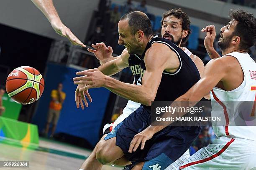
{"label": "rightmost player's bare arm reaching down across the navy shorts", "polygon": [[[215,85],[217,85],[218,82],[222,81],[223,78],[228,73],[229,68],[223,67],[223,65],[225,65],[227,62],[220,59],[221,58],[210,60],[210,62],[208,62],[208,64],[205,66],[205,70],[203,72],[201,79],[195,85],[193,85],[184,95],[178,97],[174,101],[193,101],[192,105],[191,103],[189,103],[189,107],[193,107],[198,101],[202,99],[202,97],[204,97],[207,93],[209,93],[210,90],[212,90],[212,88],[215,87]],[[166,114],[169,114],[169,113],[164,113],[163,117],[166,117]],[[174,112],[174,116],[183,116],[183,115],[180,115],[180,113]],[[137,135],[135,135],[133,140],[131,141],[131,144],[129,147],[129,153],[135,152],[140,144],[141,144],[141,149],[143,149],[146,141],[151,139],[155,133],[159,132],[165,127],[166,126],[150,125],[141,133],[138,133]]]}

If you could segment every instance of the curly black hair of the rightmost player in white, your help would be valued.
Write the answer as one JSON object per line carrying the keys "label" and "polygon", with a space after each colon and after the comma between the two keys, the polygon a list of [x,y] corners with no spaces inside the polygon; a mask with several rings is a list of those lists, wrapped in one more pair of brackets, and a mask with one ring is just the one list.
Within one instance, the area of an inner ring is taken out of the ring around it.
{"label": "curly black hair of the rightmost player in white", "polygon": [[231,10],[230,18],[237,21],[233,35],[240,37],[239,47],[248,50],[256,43],[256,18],[243,10]]}

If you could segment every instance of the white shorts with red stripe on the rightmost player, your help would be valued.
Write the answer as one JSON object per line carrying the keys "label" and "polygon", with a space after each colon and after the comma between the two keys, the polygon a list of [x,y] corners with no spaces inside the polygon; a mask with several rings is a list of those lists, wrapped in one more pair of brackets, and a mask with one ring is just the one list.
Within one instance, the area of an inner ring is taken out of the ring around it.
{"label": "white shorts with red stripe on the rightmost player", "polygon": [[180,170],[256,170],[256,142],[218,137],[192,155]]}

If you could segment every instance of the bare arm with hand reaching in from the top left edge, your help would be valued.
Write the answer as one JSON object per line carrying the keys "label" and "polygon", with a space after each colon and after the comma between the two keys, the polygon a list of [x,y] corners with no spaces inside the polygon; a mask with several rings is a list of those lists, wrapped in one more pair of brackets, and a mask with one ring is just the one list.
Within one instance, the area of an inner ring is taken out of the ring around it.
{"label": "bare arm with hand reaching in from the top left edge", "polygon": [[46,16],[52,28],[61,36],[67,37],[73,45],[85,47],[85,45],[67,28],[60,20],[52,0],[31,0]]}

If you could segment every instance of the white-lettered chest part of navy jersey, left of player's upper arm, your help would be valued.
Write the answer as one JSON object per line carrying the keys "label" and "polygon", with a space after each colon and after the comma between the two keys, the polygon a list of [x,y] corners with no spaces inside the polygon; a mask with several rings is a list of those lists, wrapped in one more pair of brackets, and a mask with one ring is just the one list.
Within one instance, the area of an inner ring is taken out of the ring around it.
{"label": "white-lettered chest part of navy jersey, left of player's upper arm", "polygon": [[134,84],[141,85],[141,55],[131,54],[128,63],[134,75]]}

